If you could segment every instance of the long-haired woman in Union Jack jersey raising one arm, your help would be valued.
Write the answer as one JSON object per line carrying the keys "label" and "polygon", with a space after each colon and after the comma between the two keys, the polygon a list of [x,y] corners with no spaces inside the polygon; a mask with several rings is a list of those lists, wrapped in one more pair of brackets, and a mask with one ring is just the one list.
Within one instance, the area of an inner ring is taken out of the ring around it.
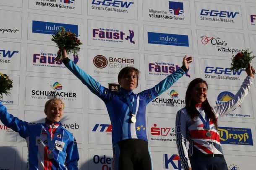
{"label": "long-haired woman in Union Jack jersey raising one arm", "polygon": [[242,103],[253,83],[254,71],[249,64],[246,68],[248,76],[236,95],[215,107],[211,107],[207,100],[206,81],[196,78],[190,82],[185,96],[185,108],[178,111],[176,116],[176,143],[184,170],[227,170],[217,121]]}

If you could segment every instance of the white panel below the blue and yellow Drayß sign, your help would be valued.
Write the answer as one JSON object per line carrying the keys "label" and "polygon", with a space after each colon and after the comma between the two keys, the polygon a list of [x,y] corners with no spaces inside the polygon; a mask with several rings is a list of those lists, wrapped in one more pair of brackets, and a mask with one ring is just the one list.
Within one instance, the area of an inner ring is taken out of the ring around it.
{"label": "white panel below the blue and yellow Dray\u00df sign", "polygon": [[227,167],[229,170],[253,170],[255,165],[256,157],[254,156],[244,156],[244,155],[225,155],[225,160],[227,162]]}

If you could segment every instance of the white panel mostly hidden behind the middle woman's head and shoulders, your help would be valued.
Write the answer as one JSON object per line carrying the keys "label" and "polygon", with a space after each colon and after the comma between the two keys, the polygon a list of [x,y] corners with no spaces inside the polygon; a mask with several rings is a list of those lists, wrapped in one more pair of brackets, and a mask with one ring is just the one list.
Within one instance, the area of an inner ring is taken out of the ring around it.
{"label": "white panel mostly hidden behind the middle woman's head and shoulders", "polygon": [[[116,75],[116,82],[101,82],[99,81],[99,84],[104,86],[105,88],[111,89],[109,86],[116,85],[118,86],[118,76]],[[115,90],[115,89],[113,89]],[[138,87],[133,90],[133,93],[139,93],[141,92],[141,86],[138,84]],[[95,110],[107,110],[105,103],[97,96],[91,93],[91,91],[88,89],[88,108],[89,109],[95,109]]]}

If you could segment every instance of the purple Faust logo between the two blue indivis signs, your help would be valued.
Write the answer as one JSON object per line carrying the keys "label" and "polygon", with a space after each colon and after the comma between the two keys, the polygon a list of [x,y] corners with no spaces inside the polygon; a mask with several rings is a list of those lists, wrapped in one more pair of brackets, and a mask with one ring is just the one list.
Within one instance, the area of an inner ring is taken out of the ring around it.
{"label": "purple Faust logo between the two blue indivis signs", "polygon": [[108,41],[115,43],[123,43],[124,41],[130,41],[130,43],[135,44],[135,41],[133,41],[134,31],[128,31],[129,33],[110,28],[95,28],[92,30],[92,39],[95,41]]}

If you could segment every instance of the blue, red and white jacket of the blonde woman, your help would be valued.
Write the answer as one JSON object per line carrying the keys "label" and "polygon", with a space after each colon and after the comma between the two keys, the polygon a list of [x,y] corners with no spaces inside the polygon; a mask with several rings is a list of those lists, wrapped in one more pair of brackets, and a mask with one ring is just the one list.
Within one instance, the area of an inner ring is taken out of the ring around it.
{"label": "blue, red and white jacket of the blonde woman", "polygon": [[29,169],[31,170],[78,170],[78,149],[76,139],[73,135],[60,127],[56,132],[57,138],[52,151],[54,157],[49,159],[47,154],[48,142],[47,131],[53,136],[60,122],[52,123],[46,121],[45,124],[34,124],[21,121],[17,117],[9,114],[5,106],[0,102],[0,120],[5,126],[18,132],[26,139],[29,150]]}

